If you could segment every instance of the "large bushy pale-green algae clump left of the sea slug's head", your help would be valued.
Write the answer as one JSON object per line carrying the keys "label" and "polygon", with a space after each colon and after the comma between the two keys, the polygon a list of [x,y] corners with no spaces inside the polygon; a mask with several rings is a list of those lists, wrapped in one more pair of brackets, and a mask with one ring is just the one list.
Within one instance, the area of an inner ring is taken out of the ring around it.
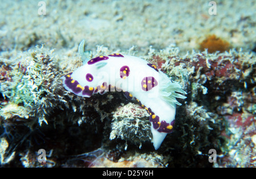
{"label": "large bushy pale-green algae clump left of the sea slug's head", "polygon": [[[23,113],[28,111],[26,116],[36,116],[40,124],[47,123],[46,111],[56,106],[56,101],[61,101],[62,98],[57,94],[60,90],[57,89],[60,72],[52,60],[52,53],[53,51],[47,51],[42,46],[23,53],[11,63],[1,59],[9,66],[3,75],[6,80],[1,82],[3,98],[23,106],[19,107]],[[0,113],[7,113],[6,107],[3,106]]]}

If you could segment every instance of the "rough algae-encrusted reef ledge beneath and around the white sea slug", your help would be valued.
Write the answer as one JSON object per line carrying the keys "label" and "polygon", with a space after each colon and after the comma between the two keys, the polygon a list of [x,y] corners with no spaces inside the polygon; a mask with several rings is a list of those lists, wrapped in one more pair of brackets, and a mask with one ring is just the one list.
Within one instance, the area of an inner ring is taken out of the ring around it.
{"label": "rough algae-encrusted reef ledge beneath and around the white sea slug", "polygon": [[[108,48],[98,47],[94,54],[102,51]],[[60,63],[60,58],[67,60]],[[79,58],[44,47],[9,57],[3,53],[1,165],[255,166],[253,53],[180,55],[170,45],[159,52],[150,48],[144,59],[188,92],[179,100],[183,105],[177,107],[174,131],[158,151],[152,147],[147,111],[136,101],[117,92],[82,98],[64,90],[60,77],[81,65]],[[47,164],[36,158],[41,148]],[[217,151],[217,163],[209,162],[210,149]]]}

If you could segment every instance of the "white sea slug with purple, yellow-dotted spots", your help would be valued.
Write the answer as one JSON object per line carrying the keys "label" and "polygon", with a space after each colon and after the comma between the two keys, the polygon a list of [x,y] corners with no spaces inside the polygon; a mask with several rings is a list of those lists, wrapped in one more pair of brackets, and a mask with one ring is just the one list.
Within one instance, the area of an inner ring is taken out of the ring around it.
{"label": "white sea slug with purple, yellow-dotted spots", "polygon": [[187,94],[154,64],[120,53],[95,57],[61,78],[65,89],[81,97],[123,91],[128,99],[137,100],[150,114],[155,149],[174,128],[176,105],[181,105],[176,98]]}

